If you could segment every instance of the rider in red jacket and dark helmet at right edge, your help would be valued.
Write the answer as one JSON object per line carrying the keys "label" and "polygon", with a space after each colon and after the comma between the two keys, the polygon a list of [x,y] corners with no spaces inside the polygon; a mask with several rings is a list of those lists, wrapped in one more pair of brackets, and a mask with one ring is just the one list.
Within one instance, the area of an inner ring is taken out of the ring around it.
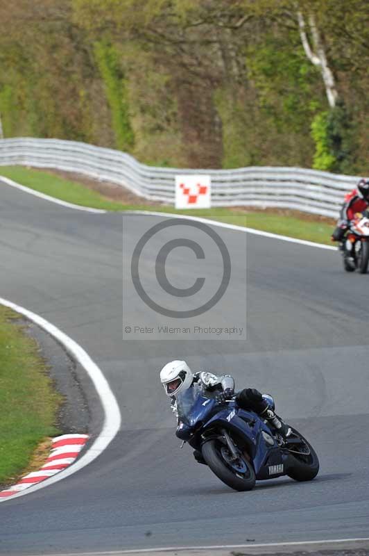
{"label": "rider in red jacket and dark helmet at right edge", "polygon": [[341,214],[336,229],[332,234],[332,241],[342,241],[355,215],[357,215],[357,213],[364,213],[368,206],[369,179],[363,178],[357,184],[357,189],[353,189],[350,193],[345,195],[345,202],[341,208]]}

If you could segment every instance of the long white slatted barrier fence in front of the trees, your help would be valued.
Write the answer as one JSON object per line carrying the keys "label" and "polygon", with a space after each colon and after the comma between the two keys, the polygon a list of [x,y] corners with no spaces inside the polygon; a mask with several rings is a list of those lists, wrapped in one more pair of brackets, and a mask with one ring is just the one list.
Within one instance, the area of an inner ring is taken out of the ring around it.
{"label": "long white slatted barrier fence in front of the trees", "polygon": [[141,164],[120,151],[57,139],[0,140],[0,165],[27,165],[78,172],[125,186],[154,201],[174,204],[175,176],[206,174],[212,206],[290,208],[336,218],[345,192],[358,177],[293,167],[179,170]]}

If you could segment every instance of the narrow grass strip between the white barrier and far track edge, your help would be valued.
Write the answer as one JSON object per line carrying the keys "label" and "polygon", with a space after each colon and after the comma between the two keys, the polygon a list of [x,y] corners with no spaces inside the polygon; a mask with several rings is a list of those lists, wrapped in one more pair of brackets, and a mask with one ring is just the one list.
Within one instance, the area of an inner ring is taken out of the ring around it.
{"label": "narrow grass strip between the white barrier and far track edge", "polygon": [[160,211],[175,214],[200,216],[237,224],[250,228],[270,231],[274,234],[291,236],[293,238],[305,239],[316,243],[330,243],[332,224],[325,222],[319,217],[309,215],[291,215],[280,213],[280,211],[246,211],[232,208],[209,208],[188,211],[175,211],[171,206],[148,206],[146,204],[123,204],[106,199],[100,193],[88,188],[82,183],[69,181],[59,177],[53,172],[35,170],[33,168],[12,166],[0,167],[0,175],[8,177],[24,186],[51,195],[70,203],[90,206],[92,208],[103,208],[108,211]]}

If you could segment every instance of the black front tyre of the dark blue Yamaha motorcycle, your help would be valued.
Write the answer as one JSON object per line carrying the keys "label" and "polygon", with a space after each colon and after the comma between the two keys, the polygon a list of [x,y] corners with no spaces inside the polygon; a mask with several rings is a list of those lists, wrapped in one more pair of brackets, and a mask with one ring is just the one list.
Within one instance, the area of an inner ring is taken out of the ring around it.
{"label": "black front tyre of the dark blue Yamaha motorcycle", "polygon": [[205,443],[203,443],[201,447],[203,458],[205,459],[207,465],[212,470],[214,475],[216,475],[218,479],[223,481],[235,491],[243,492],[252,490],[255,486],[256,481],[255,471],[252,468],[252,465],[248,461],[246,461],[246,459],[243,459],[243,463],[246,464],[250,473],[250,477],[248,477],[247,479],[241,479],[241,477],[237,477],[237,475],[235,475],[235,473],[232,472],[230,468],[228,468],[223,460],[223,457],[221,457],[220,453],[218,452],[218,444],[219,441],[217,441],[216,439],[209,439]]}

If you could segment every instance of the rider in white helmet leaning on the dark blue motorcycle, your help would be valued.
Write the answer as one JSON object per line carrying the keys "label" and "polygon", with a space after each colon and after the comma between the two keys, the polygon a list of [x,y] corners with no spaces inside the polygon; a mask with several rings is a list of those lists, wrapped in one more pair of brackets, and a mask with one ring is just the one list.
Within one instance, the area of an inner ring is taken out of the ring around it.
{"label": "rider in white helmet leaning on the dark blue motorcycle", "polygon": [[[225,402],[234,395],[234,379],[231,375],[216,376],[212,373],[192,373],[185,361],[171,361],[160,371],[160,381],[164,386],[167,396],[171,398],[171,409],[176,417],[176,397],[180,392],[193,388],[195,384],[203,389],[204,393],[213,393],[219,402]],[[261,394],[255,388],[241,390],[236,396],[236,402],[242,409],[255,411],[262,419],[265,419],[284,439],[291,434],[291,427],[286,425],[277,417],[268,404],[268,394]],[[200,454],[195,450],[196,459],[200,461]]]}

